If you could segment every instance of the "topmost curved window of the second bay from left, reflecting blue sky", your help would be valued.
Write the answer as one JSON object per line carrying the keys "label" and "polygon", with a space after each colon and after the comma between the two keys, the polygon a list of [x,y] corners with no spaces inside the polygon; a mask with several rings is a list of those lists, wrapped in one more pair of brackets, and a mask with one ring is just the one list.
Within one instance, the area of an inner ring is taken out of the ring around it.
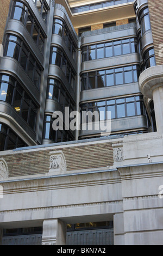
{"label": "topmost curved window of the second bay from left, reflecting blue sky", "polygon": [[76,46],[73,42],[71,33],[68,31],[68,28],[65,25],[64,21],[59,20],[59,19],[54,19],[53,34],[60,35],[64,39],[65,44],[68,47],[68,50],[70,51],[73,59],[76,62]]}

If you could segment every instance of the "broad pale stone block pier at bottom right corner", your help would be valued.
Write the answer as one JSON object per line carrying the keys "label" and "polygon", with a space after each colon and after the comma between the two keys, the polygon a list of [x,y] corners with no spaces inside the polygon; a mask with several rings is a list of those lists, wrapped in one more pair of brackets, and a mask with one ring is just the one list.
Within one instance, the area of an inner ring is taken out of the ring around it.
{"label": "broad pale stone block pier at bottom right corner", "polygon": [[[140,141],[140,145],[143,142]],[[122,179],[126,246],[163,245],[163,199],[159,198],[162,168],[162,163],[118,168]]]}

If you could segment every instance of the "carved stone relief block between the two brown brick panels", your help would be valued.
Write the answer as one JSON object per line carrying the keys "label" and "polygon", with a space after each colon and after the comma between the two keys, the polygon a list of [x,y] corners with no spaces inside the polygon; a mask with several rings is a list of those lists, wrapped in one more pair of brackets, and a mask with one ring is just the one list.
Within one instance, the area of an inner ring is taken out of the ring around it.
{"label": "carved stone relief block between the two brown brick panels", "polygon": [[65,173],[67,170],[66,159],[61,150],[50,152],[49,174],[59,172]]}

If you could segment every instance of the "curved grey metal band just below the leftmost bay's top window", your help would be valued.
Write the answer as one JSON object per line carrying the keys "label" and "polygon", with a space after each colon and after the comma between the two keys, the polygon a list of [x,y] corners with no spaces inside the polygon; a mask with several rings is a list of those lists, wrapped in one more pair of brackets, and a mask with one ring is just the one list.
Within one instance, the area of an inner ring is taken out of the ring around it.
{"label": "curved grey metal band just below the leftmost bay's top window", "polygon": [[43,55],[40,52],[39,48],[36,46],[34,40],[32,39],[32,36],[30,36],[28,31],[24,29],[24,25],[22,22],[17,20],[10,20],[6,29],[6,33],[19,36],[24,41],[24,44],[27,44],[30,52],[32,52],[37,62],[43,68]]}

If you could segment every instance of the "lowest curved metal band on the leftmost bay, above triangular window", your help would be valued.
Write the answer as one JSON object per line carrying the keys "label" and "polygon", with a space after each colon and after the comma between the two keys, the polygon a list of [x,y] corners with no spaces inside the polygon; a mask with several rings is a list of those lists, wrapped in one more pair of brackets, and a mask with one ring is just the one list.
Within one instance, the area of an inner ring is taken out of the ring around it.
{"label": "lowest curved metal band on the leftmost bay, above triangular window", "polygon": [[[18,124],[17,129],[21,130],[19,126],[22,127],[24,131],[27,132],[29,137],[35,140],[35,132],[29,127],[29,125],[26,123],[26,121],[23,120],[23,118],[18,114],[14,107],[12,107],[9,103],[0,101],[0,118],[3,116],[3,118],[9,120],[12,124]],[[3,114],[2,114],[3,113]],[[22,131],[23,132],[23,131]]]}

